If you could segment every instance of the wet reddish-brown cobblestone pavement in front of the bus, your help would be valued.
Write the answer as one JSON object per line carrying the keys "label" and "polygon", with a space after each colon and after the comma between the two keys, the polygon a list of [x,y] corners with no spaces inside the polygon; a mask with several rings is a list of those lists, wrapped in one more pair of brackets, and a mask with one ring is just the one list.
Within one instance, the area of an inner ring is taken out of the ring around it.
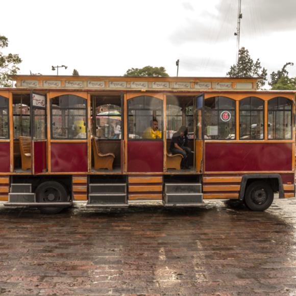
{"label": "wet reddish-brown cobblestone pavement in front of the bus", "polygon": [[263,213],[0,207],[0,294],[296,295],[296,199]]}

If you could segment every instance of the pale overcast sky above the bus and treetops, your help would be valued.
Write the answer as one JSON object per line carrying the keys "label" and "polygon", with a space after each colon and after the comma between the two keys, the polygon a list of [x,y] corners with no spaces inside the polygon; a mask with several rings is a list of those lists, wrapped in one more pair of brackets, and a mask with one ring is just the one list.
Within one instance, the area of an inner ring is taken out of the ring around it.
{"label": "pale overcast sky above the bus and treetops", "polygon": [[[164,66],[169,76],[225,76],[235,63],[238,0],[1,0],[5,53],[21,74],[121,76]],[[296,0],[242,0],[240,46],[268,74],[296,62]],[[296,64],[289,68],[296,76]]]}

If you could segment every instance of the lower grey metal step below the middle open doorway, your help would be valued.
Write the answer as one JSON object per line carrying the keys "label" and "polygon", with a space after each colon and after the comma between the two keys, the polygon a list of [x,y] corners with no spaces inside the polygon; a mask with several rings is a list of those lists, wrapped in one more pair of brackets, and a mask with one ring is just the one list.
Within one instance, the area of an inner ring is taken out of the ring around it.
{"label": "lower grey metal step below the middle open doorway", "polygon": [[88,205],[127,205],[126,193],[90,193]]}

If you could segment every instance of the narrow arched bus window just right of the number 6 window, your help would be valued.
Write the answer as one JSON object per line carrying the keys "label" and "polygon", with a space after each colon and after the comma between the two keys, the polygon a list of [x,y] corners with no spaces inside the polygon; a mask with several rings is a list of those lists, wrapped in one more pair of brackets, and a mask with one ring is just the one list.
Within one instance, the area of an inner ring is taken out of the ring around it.
{"label": "narrow arched bus window just right of the number 6 window", "polygon": [[239,102],[239,138],[264,139],[264,101],[258,97],[246,97]]}

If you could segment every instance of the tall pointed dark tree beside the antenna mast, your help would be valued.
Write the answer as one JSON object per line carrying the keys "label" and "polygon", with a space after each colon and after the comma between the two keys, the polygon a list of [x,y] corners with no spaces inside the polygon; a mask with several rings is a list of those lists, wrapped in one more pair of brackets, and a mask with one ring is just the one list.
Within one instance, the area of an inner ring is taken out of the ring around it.
{"label": "tall pointed dark tree beside the antenna mast", "polygon": [[265,85],[265,82],[267,81],[267,70],[264,67],[262,68],[259,59],[254,62],[249,54],[249,51],[244,47],[241,47],[238,51],[237,64],[232,65],[226,75],[234,78],[261,78],[257,82],[258,89],[262,89],[262,87]]}

